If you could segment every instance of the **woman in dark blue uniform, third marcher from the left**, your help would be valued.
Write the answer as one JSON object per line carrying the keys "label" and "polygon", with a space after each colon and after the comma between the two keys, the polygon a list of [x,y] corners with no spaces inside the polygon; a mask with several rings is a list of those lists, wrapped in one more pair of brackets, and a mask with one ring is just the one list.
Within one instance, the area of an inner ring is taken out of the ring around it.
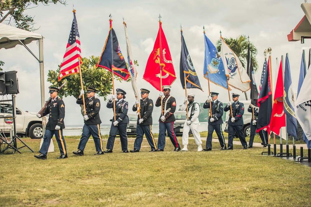
{"label": "woman in dark blue uniform, third marcher from the left", "polygon": [[119,130],[121,147],[123,153],[128,153],[127,150],[127,135],[126,128],[127,124],[130,122],[127,116],[127,111],[129,110],[129,102],[125,101],[126,92],[120,88],[116,89],[117,95],[112,95],[111,99],[107,102],[107,108],[113,109],[113,101],[115,97],[118,99],[115,101],[115,118],[112,118],[111,128],[109,132],[109,137],[107,141],[107,150],[105,153],[111,153],[113,149],[113,144],[115,142],[115,136]]}

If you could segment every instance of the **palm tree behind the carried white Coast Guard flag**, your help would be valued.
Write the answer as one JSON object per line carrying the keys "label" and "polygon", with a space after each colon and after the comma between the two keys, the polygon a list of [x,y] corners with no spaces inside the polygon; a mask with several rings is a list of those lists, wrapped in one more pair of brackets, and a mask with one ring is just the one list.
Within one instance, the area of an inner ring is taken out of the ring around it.
{"label": "palm tree behind the carried white Coast Guard flag", "polygon": [[[224,41],[227,43],[230,49],[238,56],[243,67],[246,69],[248,38],[245,35],[240,35],[236,39],[233,39],[232,37],[224,38]],[[220,51],[220,47],[221,47],[221,39],[219,38],[219,40],[217,40],[216,42],[216,48],[218,51]],[[252,42],[249,42],[249,50],[251,54],[253,70],[256,72],[258,70],[258,62],[256,60],[257,48]],[[246,100],[248,100],[247,93],[244,92],[244,94],[245,94]]]}

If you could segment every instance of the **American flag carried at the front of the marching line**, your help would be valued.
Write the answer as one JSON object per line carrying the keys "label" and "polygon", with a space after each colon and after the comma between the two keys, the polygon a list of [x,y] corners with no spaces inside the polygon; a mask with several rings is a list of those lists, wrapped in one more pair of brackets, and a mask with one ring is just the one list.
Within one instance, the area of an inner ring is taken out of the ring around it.
{"label": "American flag carried at the front of the marching line", "polygon": [[80,64],[82,64],[80,35],[78,32],[78,24],[76,20],[75,10],[73,10],[73,21],[64,59],[62,65],[60,66],[58,81],[68,75],[79,73],[79,61]]}

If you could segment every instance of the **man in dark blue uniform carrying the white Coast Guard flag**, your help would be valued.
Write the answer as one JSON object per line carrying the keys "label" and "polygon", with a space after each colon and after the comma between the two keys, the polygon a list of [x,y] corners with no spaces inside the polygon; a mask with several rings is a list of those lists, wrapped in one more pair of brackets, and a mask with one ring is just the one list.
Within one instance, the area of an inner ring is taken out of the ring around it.
{"label": "man in dark blue uniform carrying the white Coast Guard flag", "polygon": [[232,106],[232,114],[229,115],[228,120],[228,148],[227,150],[233,150],[233,138],[235,132],[238,134],[243,150],[247,149],[247,142],[243,133],[243,114],[244,114],[244,104],[239,102],[239,94],[232,93],[232,100],[229,101],[228,105],[224,107],[224,111],[229,111],[230,106]]}

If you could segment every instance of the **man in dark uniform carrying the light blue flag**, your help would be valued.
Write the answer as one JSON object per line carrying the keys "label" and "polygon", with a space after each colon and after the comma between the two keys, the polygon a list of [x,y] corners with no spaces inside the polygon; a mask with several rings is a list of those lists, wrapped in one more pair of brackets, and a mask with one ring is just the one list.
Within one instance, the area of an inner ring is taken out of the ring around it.
{"label": "man in dark uniform carrying the light blue flag", "polygon": [[212,118],[209,116],[208,134],[206,139],[206,148],[203,149],[204,151],[212,150],[212,138],[214,130],[218,136],[219,144],[221,146],[220,150],[226,150],[226,142],[224,140],[224,134],[221,128],[221,125],[224,123],[222,119],[222,115],[224,114],[224,107],[223,103],[218,101],[218,94],[219,93],[216,92],[210,92],[210,96],[207,97],[207,100],[203,105],[204,109],[210,109],[210,100],[212,100]]}

